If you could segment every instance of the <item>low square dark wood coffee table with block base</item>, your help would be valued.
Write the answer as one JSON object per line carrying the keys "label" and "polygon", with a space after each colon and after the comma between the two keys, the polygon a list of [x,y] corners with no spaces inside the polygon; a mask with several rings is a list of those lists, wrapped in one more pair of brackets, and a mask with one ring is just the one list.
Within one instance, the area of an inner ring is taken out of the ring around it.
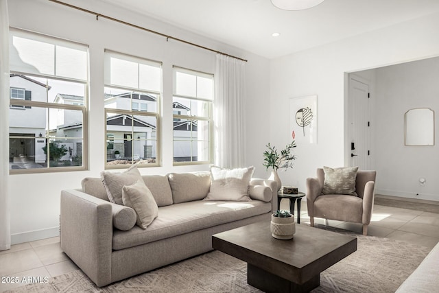
{"label": "low square dark wood coffee table with block base", "polygon": [[296,224],[291,240],[272,237],[270,221],[212,236],[214,249],[247,262],[247,282],[265,292],[309,292],[320,272],[357,250],[357,238]]}

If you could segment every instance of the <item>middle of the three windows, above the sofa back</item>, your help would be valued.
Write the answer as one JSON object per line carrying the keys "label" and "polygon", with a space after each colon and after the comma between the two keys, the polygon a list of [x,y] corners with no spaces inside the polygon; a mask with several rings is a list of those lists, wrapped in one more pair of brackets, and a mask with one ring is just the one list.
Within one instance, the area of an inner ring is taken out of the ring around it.
{"label": "middle of the three windows, above the sofa back", "polygon": [[161,62],[105,52],[106,167],[160,163]]}

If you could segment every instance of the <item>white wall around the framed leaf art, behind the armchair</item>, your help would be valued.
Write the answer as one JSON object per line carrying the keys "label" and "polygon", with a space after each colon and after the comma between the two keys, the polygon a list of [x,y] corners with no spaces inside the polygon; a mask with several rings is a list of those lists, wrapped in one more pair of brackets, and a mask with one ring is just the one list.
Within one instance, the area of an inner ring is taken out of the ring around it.
{"label": "white wall around the framed leaf art, behind the armchair", "polygon": [[[270,62],[267,142],[281,147],[290,141],[289,98],[318,95],[318,143],[298,145],[294,169],[279,174],[283,184],[305,191],[317,167],[345,165],[345,73],[438,56],[437,27],[439,14],[432,14]],[[386,180],[377,176],[378,183]]]}

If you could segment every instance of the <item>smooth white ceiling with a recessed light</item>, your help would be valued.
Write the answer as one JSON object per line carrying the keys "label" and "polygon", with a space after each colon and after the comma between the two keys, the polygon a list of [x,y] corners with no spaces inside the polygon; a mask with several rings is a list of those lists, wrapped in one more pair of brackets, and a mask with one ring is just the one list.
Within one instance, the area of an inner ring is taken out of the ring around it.
{"label": "smooth white ceiling with a recessed light", "polygon": [[325,0],[300,11],[270,0],[102,1],[269,59],[439,12],[439,0]]}

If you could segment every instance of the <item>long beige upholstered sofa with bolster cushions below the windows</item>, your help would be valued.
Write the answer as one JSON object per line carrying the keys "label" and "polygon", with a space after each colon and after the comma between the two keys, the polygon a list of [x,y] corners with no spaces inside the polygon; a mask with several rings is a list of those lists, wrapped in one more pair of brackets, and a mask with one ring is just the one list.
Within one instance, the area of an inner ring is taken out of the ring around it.
{"label": "long beige upholstered sofa with bolster cushions below the windows", "polygon": [[274,181],[252,179],[251,201],[206,201],[209,174],[142,176],[158,204],[145,230],[132,226],[134,210],[108,201],[101,178],[85,178],[81,190],[61,193],[62,250],[100,287],[206,253],[215,233],[270,220]]}

